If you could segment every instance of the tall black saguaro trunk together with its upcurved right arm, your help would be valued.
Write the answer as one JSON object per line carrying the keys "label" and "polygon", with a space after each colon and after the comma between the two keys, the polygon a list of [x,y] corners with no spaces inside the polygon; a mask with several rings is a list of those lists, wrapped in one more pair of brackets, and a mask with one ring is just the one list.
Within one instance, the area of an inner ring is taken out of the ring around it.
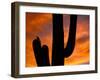
{"label": "tall black saguaro trunk together with its upcurved right arm", "polygon": [[53,51],[52,65],[64,65],[64,58],[69,57],[75,46],[77,16],[70,16],[69,38],[64,49],[63,15],[53,14]]}

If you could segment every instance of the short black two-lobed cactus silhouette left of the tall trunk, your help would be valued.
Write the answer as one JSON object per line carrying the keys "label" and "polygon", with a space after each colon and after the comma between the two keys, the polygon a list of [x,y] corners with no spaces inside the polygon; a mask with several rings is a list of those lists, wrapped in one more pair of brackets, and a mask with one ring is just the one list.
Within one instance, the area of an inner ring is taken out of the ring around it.
{"label": "short black two-lobed cactus silhouette left of the tall trunk", "polygon": [[38,66],[50,66],[48,47],[43,45],[41,47],[41,42],[39,37],[33,40],[33,50],[35,53],[35,58]]}

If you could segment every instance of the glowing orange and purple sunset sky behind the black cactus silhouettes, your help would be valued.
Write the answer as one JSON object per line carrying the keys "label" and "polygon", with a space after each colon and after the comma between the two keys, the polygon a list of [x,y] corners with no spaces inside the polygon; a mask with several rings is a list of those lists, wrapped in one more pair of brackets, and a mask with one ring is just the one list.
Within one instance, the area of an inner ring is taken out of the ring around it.
{"label": "glowing orange and purple sunset sky behind the black cactus silhouettes", "polygon": [[[63,15],[64,46],[68,38],[70,16]],[[26,13],[26,67],[37,66],[32,41],[39,36],[42,45],[49,47],[49,58],[52,56],[52,15],[47,13]],[[79,15],[77,21],[76,45],[73,54],[65,58],[65,65],[89,63],[89,16]]]}

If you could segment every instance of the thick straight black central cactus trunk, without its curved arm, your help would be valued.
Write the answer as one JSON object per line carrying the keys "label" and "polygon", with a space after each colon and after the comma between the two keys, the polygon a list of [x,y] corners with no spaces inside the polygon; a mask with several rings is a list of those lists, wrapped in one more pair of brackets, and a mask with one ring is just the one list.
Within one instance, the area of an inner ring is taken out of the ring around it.
{"label": "thick straight black central cactus trunk, without its curved arm", "polygon": [[52,66],[64,65],[63,15],[53,14]]}

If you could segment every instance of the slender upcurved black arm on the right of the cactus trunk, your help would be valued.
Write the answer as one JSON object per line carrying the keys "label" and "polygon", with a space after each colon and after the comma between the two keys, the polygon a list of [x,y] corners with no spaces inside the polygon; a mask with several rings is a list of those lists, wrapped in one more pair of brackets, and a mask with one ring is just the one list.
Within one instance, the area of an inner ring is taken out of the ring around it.
{"label": "slender upcurved black arm on the right of the cactus trunk", "polygon": [[69,57],[74,50],[75,40],[76,40],[76,28],[77,28],[77,15],[71,15],[68,42],[66,48],[64,49],[65,57]]}

